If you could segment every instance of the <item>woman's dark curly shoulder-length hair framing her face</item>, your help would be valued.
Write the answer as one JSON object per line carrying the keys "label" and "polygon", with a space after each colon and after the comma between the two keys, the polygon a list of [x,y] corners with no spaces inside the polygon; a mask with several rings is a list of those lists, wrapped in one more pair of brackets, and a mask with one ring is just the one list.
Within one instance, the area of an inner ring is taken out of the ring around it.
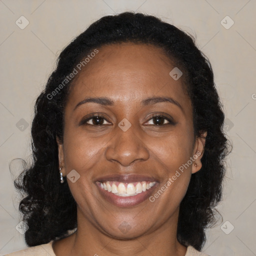
{"label": "woman's dark curly shoulder-length hair framing her face", "polygon": [[177,239],[182,245],[202,248],[205,228],[216,220],[214,207],[222,198],[228,140],[223,132],[224,113],[210,62],[194,41],[193,36],[155,16],[123,12],[95,21],[62,50],[55,70],[36,99],[31,127],[32,164],[14,181],[23,197],[19,211],[29,226],[25,232],[28,246],[63,238],[68,236],[68,230],[77,227],[76,202],[67,182],[59,182],[56,143],[56,137],[63,140],[63,111],[73,79],[56,95],[49,95],[96,47],[133,42],[160,47],[182,70],[193,107],[194,136],[207,131],[202,167],[191,175],[180,204],[177,227]]}

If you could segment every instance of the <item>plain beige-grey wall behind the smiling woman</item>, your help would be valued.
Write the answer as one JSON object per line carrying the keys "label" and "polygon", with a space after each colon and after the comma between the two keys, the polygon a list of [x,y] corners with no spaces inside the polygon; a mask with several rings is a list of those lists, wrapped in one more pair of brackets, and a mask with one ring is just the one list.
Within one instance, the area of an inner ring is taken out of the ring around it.
{"label": "plain beige-grey wall behind the smiling woman", "polygon": [[[34,101],[57,55],[91,22],[125,10],[156,15],[195,35],[209,57],[233,151],[217,207],[223,221],[207,230],[203,251],[256,255],[255,0],[0,0],[0,254],[26,247],[15,228],[20,216],[13,178],[20,166],[13,163],[10,173],[8,165],[16,157],[30,159]],[[29,21],[23,29],[21,15]]]}

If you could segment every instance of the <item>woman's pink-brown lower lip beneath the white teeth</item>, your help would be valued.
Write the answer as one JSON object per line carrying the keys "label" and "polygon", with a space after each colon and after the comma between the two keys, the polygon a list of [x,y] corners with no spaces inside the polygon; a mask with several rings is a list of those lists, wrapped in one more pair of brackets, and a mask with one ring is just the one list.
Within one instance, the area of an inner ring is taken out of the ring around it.
{"label": "woman's pink-brown lower lip beneath the white teeth", "polygon": [[[157,184],[157,183],[156,183]],[[156,186],[156,184],[152,187],[150,187],[149,189],[146,189],[144,192],[141,192],[139,194],[136,195],[132,195],[132,196],[118,196],[112,192],[108,192],[105,189],[103,189],[99,183],[96,183],[100,193],[103,195],[103,197],[115,204],[116,206],[119,207],[131,207],[131,206],[135,206],[141,202],[143,202],[144,200],[146,200],[150,194],[152,193],[154,187]]]}

